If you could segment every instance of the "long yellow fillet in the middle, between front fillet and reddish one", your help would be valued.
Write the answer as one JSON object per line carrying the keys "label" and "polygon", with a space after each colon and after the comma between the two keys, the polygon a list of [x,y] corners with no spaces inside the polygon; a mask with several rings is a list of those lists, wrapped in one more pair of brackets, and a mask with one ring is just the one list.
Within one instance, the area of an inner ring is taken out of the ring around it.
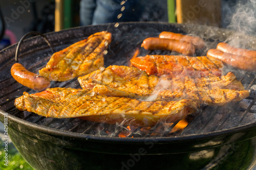
{"label": "long yellow fillet in the middle, between front fillet and reddish one", "polygon": [[223,106],[249,96],[236,76],[229,72],[221,78],[208,75],[202,78],[148,76],[135,67],[112,65],[91,72],[78,81],[83,89],[108,96],[125,96],[145,101],[178,101],[189,99],[198,104]]}

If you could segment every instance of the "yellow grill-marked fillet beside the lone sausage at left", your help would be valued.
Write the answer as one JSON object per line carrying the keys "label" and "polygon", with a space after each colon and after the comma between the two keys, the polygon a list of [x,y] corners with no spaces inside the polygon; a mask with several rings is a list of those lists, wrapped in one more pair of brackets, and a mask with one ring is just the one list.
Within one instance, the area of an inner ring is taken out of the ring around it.
{"label": "yellow grill-marked fillet beside the lone sausage at left", "polygon": [[103,52],[111,43],[111,33],[102,31],[52,55],[39,75],[50,81],[67,81],[104,66]]}

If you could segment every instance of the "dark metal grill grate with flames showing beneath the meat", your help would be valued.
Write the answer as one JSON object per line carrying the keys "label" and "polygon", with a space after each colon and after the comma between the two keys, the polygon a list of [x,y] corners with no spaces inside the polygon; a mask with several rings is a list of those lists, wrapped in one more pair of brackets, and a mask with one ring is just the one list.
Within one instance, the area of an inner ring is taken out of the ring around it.
{"label": "dark metal grill grate with flames showing beneath the meat", "polygon": [[[163,28],[161,28],[163,29]],[[150,30],[151,34],[145,34],[145,31]],[[170,30],[171,31],[171,30]],[[95,32],[95,31],[94,31]],[[127,30],[125,30],[125,33]],[[127,65],[129,60],[134,55],[134,49],[140,49],[141,56],[146,54],[158,54],[158,55],[170,55],[171,53],[164,51],[146,51],[140,48],[140,44],[144,38],[149,36],[157,36],[160,31],[157,29],[143,29],[136,28],[130,30],[129,34],[124,34],[120,31],[115,33],[113,37],[118,37],[113,40],[110,45],[109,53],[105,57],[105,66],[109,65]],[[77,33],[76,33],[77,34]],[[137,36],[131,37],[130,35],[136,34]],[[82,38],[82,36],[75,36]],[[86,38],[86,37],[84,37]],[[61,50],[63,47],[70,45],[72,42],[77,41],[78,38],[70,40],[68,43],[55,46],[55,51]],[[208,38],[208,44],[212,46],[216,45],[218,41]],[[37,41],[37,40],[35,40]],[[221,41],[221,40],[220,40]],[[25,45],[26,46],[26,45]],[[209,46],[210,47],[210,46]],[[133,49],[133,50],[131,50]],[[15,49],[14,49],[15,50]],[[206,51],[206,50],[205,50]],[[199,52],[198,56],[205,53]],[[2,52],[3,53],[3,52]],[[20,62],[24,64],[26,68],[33,72],[37,72],[38,69],[43,67],[49,60],[51,50],[33,51],[20,55]],[[172,53],[175,55],[175,53]],[[25,57],[24,57],[25,56]],[[39,56],[39,57],[38,57]],[[32,59],[33,58],[33,59]],[[13,59],[14,60],[14,59]],[[32,61],[33,64],[31,64]],[[1,60],[0,60],[1,64]],[[1,69],[9,71],[11,64],[5,64]],[[254,84],[256,81],[254,72],[235,72],[238,80],[241,80],[247,90],[250,91],[250,96],[238,103],[230,104],[223,107],[201,107],[200,113],[196,117],[188,117],[189,124],[184,129],[177,129],[174,124],[159,123],[154,127],[133,127],[123,125],[108,125],[93,123],[87,120],[79,118],[47,118],[39,116],[35,113],[19,111],[14,106],[14,100],[22,95],[24,91],[34,93],[35,91],[18,84],[10,76],[7,79],[0,79],[0,86],[3,87],[0,90],[0,109],[8,112],[15,117],[26,120],[27,122],[37,124],[42,127],[52,128],[59,131],[66,131],[69,133],[79,133],[85,135],[98,135],[108,137],[129,137],[129,138],[141,138],[141,137],[172,137],[172,136],[186,136],[192,134],[204,134],[215,131],[227,130],[234,127],[239,127],[246,124],[256,123],[256,88]],[[7,73],[10,75],[10,73]],[[51,82],[51,87],[73,87],[80,88],[79,82],[76,79],[67,82]],[[218,125],[218,126],[216,126]]]}

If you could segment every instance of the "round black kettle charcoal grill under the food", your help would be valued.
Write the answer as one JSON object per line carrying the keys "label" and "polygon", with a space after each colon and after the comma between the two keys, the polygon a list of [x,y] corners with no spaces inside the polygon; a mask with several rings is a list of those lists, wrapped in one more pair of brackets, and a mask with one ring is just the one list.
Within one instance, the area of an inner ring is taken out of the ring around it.
{"label": "round black kettle charcoal grill under the food", "polygon": [[[204,38],[207,47],[197,51],[206,55],[209,48],[228,39],[243,39],[248,48],[256,49],[256,38],[231,30],[166,22],[124,22],[86,26],[45,34],[54,51],[107,30],[113,41],[105,55],[105,66],[129,65],[139,50],[146,54],[169,55],[166,51],[146,51],[140,47],[147,37],[161,31],[193,34]],[[236,35],[236,36],[234,36]],[[10,74],[15,63],[17,44],[0,52],[0,119],[8,116],[8,135],[20,154],[35,169],[250,169],[256,164],[256,74],[236,68],[233,71],[250,96],[223,107],[202,106],[189,124],[173,130],[177,123],[155,127],[127,127],[93,123],[78,118],[47,118],[19,111],[15,98],[24,91],[35,93],[18,84]],[[28,70],[38,72],[52,54],[40,36],[28,38],[20,45],[19,62]],[[51,87],[80,88],[76,79],[51,82]]]}

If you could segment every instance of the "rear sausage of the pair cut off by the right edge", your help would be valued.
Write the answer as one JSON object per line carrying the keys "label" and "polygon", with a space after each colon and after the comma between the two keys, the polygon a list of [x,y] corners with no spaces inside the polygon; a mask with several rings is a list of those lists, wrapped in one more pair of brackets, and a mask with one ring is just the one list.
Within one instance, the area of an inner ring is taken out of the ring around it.
{"label": "rear sausage of the pair cut off by the right edge", "polygon": [[248,56],[248,57],[256,57],[256,51],[246,50],[245,48],[236,48],[225,42],[218,43],[217,49],[224,53],[231,53],[231,54]]}

